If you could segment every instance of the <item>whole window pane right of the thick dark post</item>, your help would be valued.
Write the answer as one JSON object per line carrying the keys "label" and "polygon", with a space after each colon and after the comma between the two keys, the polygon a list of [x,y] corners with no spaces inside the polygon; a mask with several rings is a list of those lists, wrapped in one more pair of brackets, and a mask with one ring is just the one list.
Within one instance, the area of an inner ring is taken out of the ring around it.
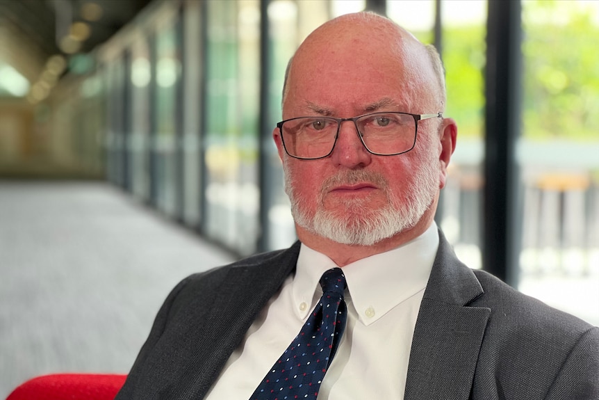
{"label": "whole window pane right of the thick dark post", "polygon": [[599,324],[596,1],[523,1],[519,289]]}

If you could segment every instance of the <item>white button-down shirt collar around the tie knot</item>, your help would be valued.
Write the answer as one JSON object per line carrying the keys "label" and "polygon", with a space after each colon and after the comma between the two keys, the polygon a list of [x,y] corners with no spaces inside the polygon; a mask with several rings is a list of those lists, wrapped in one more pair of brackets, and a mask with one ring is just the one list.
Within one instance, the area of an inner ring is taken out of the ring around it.
{"label": "white button-down shirt collar around the tie knot", "polygon": [[[425,289],[438,248],[435,223],[416,239],[393,250],[343,266],[353,306],[365,325]],[[295,313],[305,319],[322,294],[322,273],[336,267],[326,255],[302,243],[292,282]]]}

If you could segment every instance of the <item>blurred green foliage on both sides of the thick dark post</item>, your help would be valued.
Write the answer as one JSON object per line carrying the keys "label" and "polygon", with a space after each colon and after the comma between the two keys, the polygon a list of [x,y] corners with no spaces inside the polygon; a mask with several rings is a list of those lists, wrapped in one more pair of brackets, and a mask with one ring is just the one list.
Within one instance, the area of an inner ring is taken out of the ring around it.
{"label": "blurred green foliage on both sides of the thick dark post", "polygon": [[[578,3],[523,1],[525,138],[599,141],[599,18]],[[482,22],[443,30],[445,115],[461,137],[484,134],[485,29]]]}

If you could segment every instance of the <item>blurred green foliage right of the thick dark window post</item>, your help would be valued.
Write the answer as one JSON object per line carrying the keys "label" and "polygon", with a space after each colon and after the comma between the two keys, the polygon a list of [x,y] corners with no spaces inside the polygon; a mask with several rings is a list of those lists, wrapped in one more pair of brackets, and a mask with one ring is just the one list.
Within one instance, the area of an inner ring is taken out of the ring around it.
{"label": "blurred green foliage right of the thick dark window post", "polygon": [[595,22],[589,9],[571,1],[523,2],[523,134],[528,138],[599,141],[594,17]]}

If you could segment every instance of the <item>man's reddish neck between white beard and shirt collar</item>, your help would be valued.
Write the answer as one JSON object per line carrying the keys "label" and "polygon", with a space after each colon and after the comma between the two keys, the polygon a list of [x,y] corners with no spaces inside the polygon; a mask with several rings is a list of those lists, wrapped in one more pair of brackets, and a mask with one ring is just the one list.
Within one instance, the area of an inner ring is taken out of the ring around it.
{"label": "man's reddish neck between white beard and shirt collar", "polygon": [[422,218],[420,218],[420,221],[410,229],[403,230],[402,232],[379,241],[372,246],[337,243],[313,234],[297,224],[295,225],[295,229],[297,231],[298,239],[300,239],[306,246],[326,255],[338,266],[345,266],[352,262],[356,262],[359,259],[393,250],[394,248],[402,246],[404,243],[416,239],[433,223],[435,209],[436,207],[430,207]]}

